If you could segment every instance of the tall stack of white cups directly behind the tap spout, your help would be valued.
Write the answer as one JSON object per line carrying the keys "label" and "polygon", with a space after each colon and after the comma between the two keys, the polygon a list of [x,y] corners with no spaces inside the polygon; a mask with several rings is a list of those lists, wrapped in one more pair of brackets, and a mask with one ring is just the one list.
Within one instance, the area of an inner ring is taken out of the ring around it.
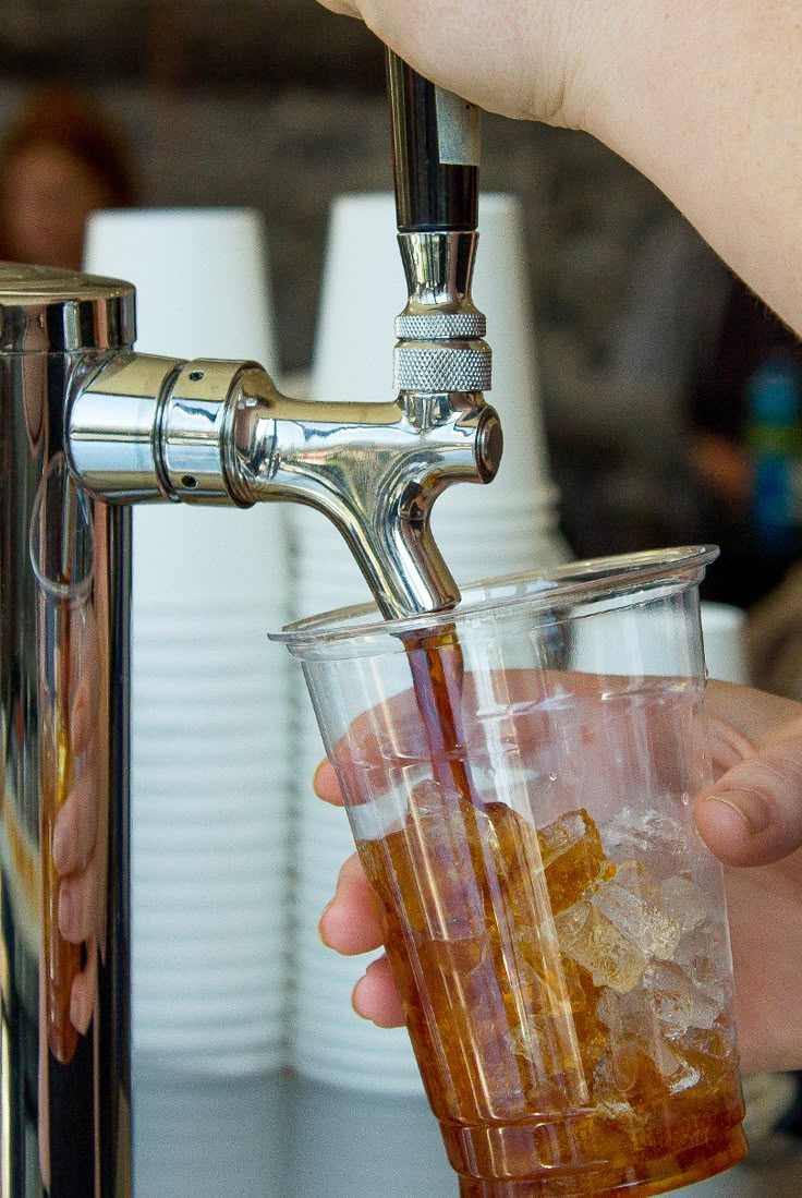
{"label": "tall stack of white cups directly behind the tap spout", "polygon": [[[493,389],[506,431],[502,468],[491,486],[455,485],[438,498],[432,527],[457,582],[535,569],[567,556],[557,531],[555,489],[541,423],[535,329],[518,201],[480,200],[473,296],[487,316]],[[318,400],[387,401],[393,393],[395,316],[407,289],[390,194],[348,195],[333,206],[311,376]],[[358,334],[358,335],[357,335]],[[298,509],[298,615],[370,599],[345,543],[326,519]],[[323,756],[308,704],[302,708],[298,827],[298,960],[294,1060],[317,1079],[393,1094],[420,1091],[406,1033],[377,1030],[350,1011],[364,958],[339,958],[315,925],[334,893],[338,869],[353,852],[342,811],[317,800],[310,780]]]}

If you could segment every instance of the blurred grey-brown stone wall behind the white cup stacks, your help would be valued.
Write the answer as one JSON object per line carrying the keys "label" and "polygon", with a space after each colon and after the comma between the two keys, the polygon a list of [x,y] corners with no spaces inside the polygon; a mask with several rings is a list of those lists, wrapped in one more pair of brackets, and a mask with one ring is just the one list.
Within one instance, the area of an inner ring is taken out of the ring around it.
{"label": "blurred grey-brown stone wall behind the white cup stacks", "polygon": [[[263,213],[281,370],[306,369],[329,205],[391,186],[375,38],[311,0],[7,0],[0,139],[32,86],[54,81],[87,95],[119,132],[138,204]],[[482,186],[524,205],[571,545],[585,555],[715,539],[715,513],[697,527],[705,483],[682,435],[727,273],[661,194],[588,137],[488,117]],[[742,597],[730,586],[722,598]]]}

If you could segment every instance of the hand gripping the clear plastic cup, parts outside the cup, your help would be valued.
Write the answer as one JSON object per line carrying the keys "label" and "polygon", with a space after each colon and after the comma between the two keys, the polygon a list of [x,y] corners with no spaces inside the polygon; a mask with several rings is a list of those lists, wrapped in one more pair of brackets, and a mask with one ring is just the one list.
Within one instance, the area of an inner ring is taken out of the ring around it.
{"label": "hand gripping the clear plastic cup, parts outside the cup", "polygon": [[[725,865],[743,1069],[802,1067],[802,707],[743,686],[710,683],[713,773],[697,803],[703,837]],[[315,787],[340,801],[326,762]],[[320,924],[326,944],[360,954],[382,944],[382,920],[356,855],[342,866]],[[381,1027],[403,1023],[385,957],[353,993],[354,1010]]]}

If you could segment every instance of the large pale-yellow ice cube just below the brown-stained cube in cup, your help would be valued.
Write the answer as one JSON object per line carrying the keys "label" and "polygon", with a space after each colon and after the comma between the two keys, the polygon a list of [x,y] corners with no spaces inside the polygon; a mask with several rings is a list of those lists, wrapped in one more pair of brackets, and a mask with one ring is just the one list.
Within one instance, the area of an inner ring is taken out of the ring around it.
{"label": "large pale-yellow ice cube just below the brown-stained cube in cup", "polygon": [[560,948],[591,974],[594,985],[626,993],[643,978],[640,949],[588,900],[561,912],[554,925]]}

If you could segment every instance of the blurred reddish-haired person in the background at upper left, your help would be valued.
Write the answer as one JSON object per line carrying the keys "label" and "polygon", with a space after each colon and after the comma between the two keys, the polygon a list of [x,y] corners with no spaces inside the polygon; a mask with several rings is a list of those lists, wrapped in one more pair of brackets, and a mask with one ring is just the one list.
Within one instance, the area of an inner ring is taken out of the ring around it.
{"label": "blurred reddish-haired person in the background at upper left", "polygon": [[32,92],[0,144],[0,259],[80,270],[89,214],[134,201],[128,159],[91,97]]}

